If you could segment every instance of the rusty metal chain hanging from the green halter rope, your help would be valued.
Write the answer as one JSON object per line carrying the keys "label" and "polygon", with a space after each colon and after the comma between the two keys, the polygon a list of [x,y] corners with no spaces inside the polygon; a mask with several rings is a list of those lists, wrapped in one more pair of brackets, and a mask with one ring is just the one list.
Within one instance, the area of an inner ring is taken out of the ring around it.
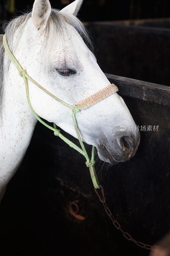
{"label": "rusty metal chain hanging from the green halter rope", "polygon": [[119,229],[119,230],[122,232],[123,236],[124,236],[126,239],[128,239],[129,241],[132,241],[132,242],[135,243],[137,246],[140,246],[140,247],[145,248],[145,249],[148,249],[148,250],[154,250],[154,249],[156,249],[157,246],[155,246],[155,245],[149,245],[149,244],[144,244],[144,243],[142,243],[142,242],[139,242],[139,241],[133,239],[132,236],[130,236],[127,232],[125,232],[125,231],[122,230],[121,225],[115,220],[115,218],[114,218],[113,215],[112,215],[112,212],[111,212],[110,209],[107,207],[106,198],[105,198],[105,194],[104,194],[104,189],[103,189],[103,187],[102,187],[101,185],[99,185],[99,186],[100,186],[100,188],[101,188],[101,193],[102,193],[103,199],[101,199],[101,196],[100,196],[99,193],[97,192],[97,189],[96,189],[96,188],[94,188],[94,191],[96,192],[97,196],[99,197],[100,202],[103,204],[104,209],[105,209],[107,215],[108,215],[109,218],[112,220],[113,225],[114,225],[117,229]]}

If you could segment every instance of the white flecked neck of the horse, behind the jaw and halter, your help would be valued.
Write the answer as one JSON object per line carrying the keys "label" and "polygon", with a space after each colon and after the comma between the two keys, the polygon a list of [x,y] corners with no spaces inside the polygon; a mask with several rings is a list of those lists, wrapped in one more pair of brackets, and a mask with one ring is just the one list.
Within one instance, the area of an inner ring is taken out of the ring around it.
{"label": "white flecked neck of the horse, behind the jaw and halter", "polygon": [[29,146],[36,119],[26,101],[24,79],[4,57],[4,93],[0,120],[0,194],[17,171]]}

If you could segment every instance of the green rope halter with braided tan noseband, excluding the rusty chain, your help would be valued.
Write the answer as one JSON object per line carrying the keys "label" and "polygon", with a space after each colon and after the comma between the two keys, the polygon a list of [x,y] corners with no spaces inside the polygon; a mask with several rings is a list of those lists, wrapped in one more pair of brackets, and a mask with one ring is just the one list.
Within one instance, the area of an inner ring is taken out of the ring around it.
{"label": "green rope halter with braided tan noseband, excluding the rusty chain", "polygon": [[[94,93],[92,96],[88,97],[85,100],[82,100],[80,102],[77,103],[77,105],[69,105],[66,102],[64,102],[63,100],[58,99],[55,95],[53,95],[52,93],[48,92],[45,88],[43,88],[40,84],[38,84],[35,80],[33,80],[27,73],[26,70],[23,69],[21,67],[21,65],[19,64],[18,60],[15,58],[15,56],[12,54],[8,43],[7,43],[7,39],[6,39],[6,34],[3,36],[3,44],[4,44],[4,48],[5,51],[7,52],[9,58],[11,59],[12,63],[15,65],[15,67],[18,69],[19,71],[19,75],[22,76],[24,78],[24,82],[25,82],[25,86],[26,86],[26,98],[28,101],[28,105],[33,113],[33,115],[42,123],[44,124],[47,128],[49,128],[50,130],[54,131],[54,135],[60,137],[62,140],[64,140],[71,148],[74,148],[75,150],[77,150],[79,153],[81,153],[83,156],[85,156],[86,158],[86,166],[89,167],[90,169],[90,174],[91,174],[91,178],[92,178],[92,182],[94,185],[94,188],[100,188],[99,186],[99,181],[94,169],[94,164],[95,164],[95,160],[94,160],[94,151],[95,151],[95,147],[92,146],[92,157],[91,160],[89,159],[87,152],[85,150],[85,146],[83,144],[83,141],[81,140],[80,134],[78,132],[78,125],[77,125],[77,121],[76,121],[76,117],[75,114],[78,113],[80,110],[86,109],[91,107],[92,105],[98,103],[99,101],[107,98],[109,95],[113,94],[114,92],[118,91],[118,88],[115,84],[110,84],[107,87],[105,87],[104,89],[100,90],[99,92]],[[59,101],[60,103],[62,103],[64,106],[71,108],[72,109],[72,118],[73,118],[73,123],[74,123],[74,127],[78,136],[78,140],[80,142],[81,148],[79,148],[76,144],[74,144],[72,141],[68,140],[66,137],[64,137],[61,133],[60,130],[56,129],[56,124],[54,124],[54,127],[46,124],[33,110],[32,106],[31,106],[31,102],[30,102],[30,98],[29,98],[29,89],[28,89],[28,79],[35,84],[36,86],[38,86],[43,92],[46,92],[49,96],[51,96],[53,99]]]}

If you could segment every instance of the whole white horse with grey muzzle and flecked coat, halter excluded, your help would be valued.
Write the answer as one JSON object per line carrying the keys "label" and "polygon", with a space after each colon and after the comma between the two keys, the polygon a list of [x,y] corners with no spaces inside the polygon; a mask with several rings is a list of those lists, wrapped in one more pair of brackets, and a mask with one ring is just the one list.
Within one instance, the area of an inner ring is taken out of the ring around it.
{"label": "whole white horse with grey muzzle and flecked coat, halter excluded", "polygon": [[[110,84],[87,47],[89,37],[76,17],[82,1],[76,0],[58,11],[51,9],[48,0],[35,0],[32,12],[11,20],[5,28],[8,45],[27,74],[70,105]],[[23,78],[4,52],[2,37],[0,200],[22,162],[37,122],[26,100]],[[77,138],[69,108],[31,82],[29,92],[37,115]],[[80,111],[76,119],[82,140],[96,146],[101,160],[116,164],[134,156],[140,133],[120,131],[120,125],[135,126],[135,123],[117,93]]]}

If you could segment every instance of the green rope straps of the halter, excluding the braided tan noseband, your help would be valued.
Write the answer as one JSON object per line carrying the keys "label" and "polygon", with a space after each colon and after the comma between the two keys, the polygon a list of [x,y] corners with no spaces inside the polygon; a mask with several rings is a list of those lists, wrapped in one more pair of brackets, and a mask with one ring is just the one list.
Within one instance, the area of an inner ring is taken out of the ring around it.
{"label": "green rope straps of the halter, excluding the braided tan noseband", "polygon": [[[92,178],[92,182],[94,185],[94,188],[100,188],[99,186],[99,181],[94,169],[94,164],[95,164],[95,160],[94,160],[94,152],[95,152],[95,147],[92,146],[92,157],[91,159],[89,158],[89,156],[87,155],[87,152],[85,150],[85,146],[83,144],[83,141],[81,140],[80,134],[78,132],[78,125],[77,125],[77,121],[76,121],[76,116],[75,114],[78,113],[80,111],[80,109],[78,108],[78,106],[76,105],[69,105],[66,102],[64,102],[63,100],[58,99],[55,95],[53,95],[52,93],[48,92],[45,88],[43,88],[40,84],[38,84],[36,81],[34,81],[27,73],[26,70],[24,70],[21,65],[19,64],[18,60],[15,58],[15,56],[12,54],[8,43],[7,43],[7,39],[6,39],[6,34],[3,36],[3,44],[4,44],[4,48],[5,51],[7,52],[9,58],[11,59],[12,63],[15,65],[15,67],[18,69],[19,71],[19,75],[21,77],[24,78],[24,82],[25,82],[25,87],[26,87],[26,98],[28,101],[28,105],[33,113],[33,115],[40,121],[41,124],[45,125],[48,129],[52,130],[54,132],[55,136],[60,137],[64,142],[66,142],[71,148],[74,148],[75,150],[77,150],[80,154],[82,154],[83,156],[85,156],[86,158],[86,166],[89,167],[90,169],[90,174],[91,174],[91,178]],[[74,127],[78,136],[78,140],[80,142],[81,148],[79,148],[76,144],[74,144],[72,141],[68,140],[66,137],[64,137],[61,133],[60,130],[56,129],[56,124],[54,124],[54,127],[46,124],[33,110],[33,107],[31,106],[31,102],[30,102],[30,98],[29,98],[29,89],[28,89],[28,79],[35,84],[37,87],[39,87],[43,92],[47,93],[49,96],[51,96],[53,99],[59,101],[61,104],[63,104],[64,106],[71,108],[72,109],[72,118],[73,118],[73,123],[74,123]],[[115,86],[116,87],[116,86]],[[106,87],[107,88],[107,87]],[[117,87],[116,87],[117,88]],[[118,90],[118,89],[116,89]],[[113,92],[112,92],[113,93]],[[95,94],[96,95],[96,94]],[[106,95],[109,96],[110,94]],[[102,98],[103,99],[103,98]],[[101,99],[101,100],[102,100]],[[97,101],[96,101],[97,103]],[[93,103],[95,104],[95,103]]]}

